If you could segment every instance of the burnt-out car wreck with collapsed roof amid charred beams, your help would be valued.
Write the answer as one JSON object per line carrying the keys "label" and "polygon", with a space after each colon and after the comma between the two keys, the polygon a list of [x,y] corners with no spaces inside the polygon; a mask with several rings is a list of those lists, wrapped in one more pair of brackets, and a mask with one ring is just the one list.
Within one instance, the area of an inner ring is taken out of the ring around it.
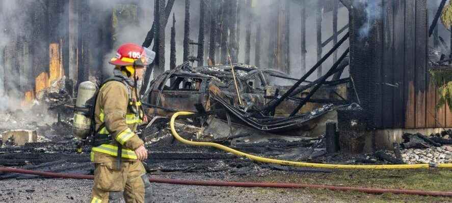
{"label": "burnt-out car wreck with collapsed roof amid charred beams", "polygon": [[[244,122],[254,128],[268,131],[288,130],[289,128],[304,128],[308,130],[313,123],[302,122],[310,120],[315,115],[312,112],[327,112],[333,107],[322,109],[325,104],[345,104],[348,102],[349,83],[347,81],[324,84],[307,105],[299,111],[299,115],[287,120],[286,117],[296,109],[300,100],[310,92],[309,81],[294,91],[284,100],[271,115],[259,115],[262,107],[286,92],[298,80],[286,74],[271,70],[258,69],[245,64],[234,64],[236,76],[235,89],[230,65],[190,67],[179,66],[156,77],[149,86],[145,100],[151,116],[169,116],[173,112],[198,112],[224,109],[233,120]],[[256,113],[253,114],[252,112]],[[307,114],[308,113],[308,114]],[[218,115],[224,118],[225,114]],[[322,115],[322,114],[318,114]],[[261,121],[259,121],[262,119]],[[274,120],[276,119],[276,120]],[[301,120],[300,120],[301,119]],[[275,125],[272,124],[275,121]],[[277,124],[279,121],[282,124]],[[270,123],[269,123],[270,122]],[[273,126],[273,127],[272,127]],[[287,128],[288,126],[291,126]]]}

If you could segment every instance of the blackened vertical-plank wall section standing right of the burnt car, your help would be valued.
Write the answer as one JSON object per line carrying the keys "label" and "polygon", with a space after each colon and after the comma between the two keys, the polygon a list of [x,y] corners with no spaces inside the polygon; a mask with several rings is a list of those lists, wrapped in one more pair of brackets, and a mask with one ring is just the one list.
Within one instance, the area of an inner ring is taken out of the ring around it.
{"label": "blackened vertical-plank wall section standing right of the burnt car", "polygon": [[436,117],[445,121],[446,113],[435,109],[436,88],[427,73],[427,1],[350,4],[350,74],[368,127],[439,127]]}

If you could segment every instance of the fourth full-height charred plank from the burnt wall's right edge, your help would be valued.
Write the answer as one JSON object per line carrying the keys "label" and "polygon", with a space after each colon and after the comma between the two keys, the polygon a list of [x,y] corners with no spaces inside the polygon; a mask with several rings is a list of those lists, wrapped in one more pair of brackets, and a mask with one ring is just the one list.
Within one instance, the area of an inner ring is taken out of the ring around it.
{"label": "fourth full-height charred plank from the burnt wall's right edge", "polygon": [[383,128],[392,127],[392,115],[393,111],[393,53],[394,53],[394,12],[392,0],[383,0],[383,66],[382,66],[382,80],[380,84],[382,87],[382,103],[384,111],[383,116]]}

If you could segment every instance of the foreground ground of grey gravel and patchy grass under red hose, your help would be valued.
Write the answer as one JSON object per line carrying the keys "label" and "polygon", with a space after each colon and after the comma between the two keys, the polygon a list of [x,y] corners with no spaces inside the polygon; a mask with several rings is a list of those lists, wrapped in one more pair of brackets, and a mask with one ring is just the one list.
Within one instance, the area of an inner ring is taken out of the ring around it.
{"label": "foreground ground of grey gravel and patchy grass under red hose", "polygon": [[[407,173],[409,172],[409,173]],[[158,178],[217,181],[290,182],[452,191],[452,170],[271,172],[236,176],[219,173],[152,175]],[[0,181],[0,202],[88,202],[92,180],[29,179]],[[447,197],[341,192],[322,189],[277,189],[153,185],[153,202],[452,202]]]}

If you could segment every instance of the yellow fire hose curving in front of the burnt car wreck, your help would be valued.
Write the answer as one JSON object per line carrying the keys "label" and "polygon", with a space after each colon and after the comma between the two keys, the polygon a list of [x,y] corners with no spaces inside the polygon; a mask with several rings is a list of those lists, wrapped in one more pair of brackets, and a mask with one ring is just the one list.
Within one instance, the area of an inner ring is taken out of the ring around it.
{"label": "yellow fire hose curving in front of the burnt car wreck", "polygon": [[452,168],[452,163],[440,163],[438,165],[430,165],[430,164],[394,164],[394,165],[345,165],[345,164],[325,164],[325,163],[307,163],[307,162],[298,162],[298,161],[286,161],[286,160],[278,160],[271,158],[264,158],[259,156],[254,156],[251,154],[247,154],[241,151],[237,151],[235,149],[217,144],[217,143],[208,143],[208,142],[193,142],[183,139],[176,132],[174,127],[174,121],[178,116],[186,116],[191,115],[191,112],[177,112],[171,117],[170,127],[171,132],[173,133],[174,138],[178,141],[194,146],[205,146],[205,147],[215,147],[221,149],[226,152],[230,152],[232,154],[247,157],[251,160],[264,162],[264,163],[273,163],[279,165],[291,165],[291,166],[300,166],[300,167],[313,167],[313,168],[336,168],[336,169],[417,169],[417,168],[430,168],[430,167],[440,167],[440,168]]}

